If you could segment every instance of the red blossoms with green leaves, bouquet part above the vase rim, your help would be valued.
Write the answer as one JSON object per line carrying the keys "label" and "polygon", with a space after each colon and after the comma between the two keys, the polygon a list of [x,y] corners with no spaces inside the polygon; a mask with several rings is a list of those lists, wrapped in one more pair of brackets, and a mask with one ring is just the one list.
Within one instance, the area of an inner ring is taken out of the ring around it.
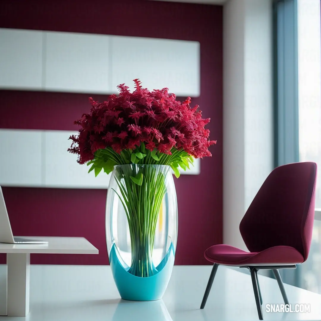
{"label": "red blossoms with green leaves, bouquet part above the vase rim", "polygon": [[178,167],[185,170],[194,158],[211,156],[208,147],[216,141],[204,129],[210,118],[202,118],[198,105],[190,108],[190,97],[180,102],[167,88],[150,92],[134,82],[133,93],[121,84],[118,97],[101,103],[90,98],[91,113],[75,121],[82,128],[68,149],[80,164],[91,164],[96,176],[117,164],[170,165],[178,177]]}

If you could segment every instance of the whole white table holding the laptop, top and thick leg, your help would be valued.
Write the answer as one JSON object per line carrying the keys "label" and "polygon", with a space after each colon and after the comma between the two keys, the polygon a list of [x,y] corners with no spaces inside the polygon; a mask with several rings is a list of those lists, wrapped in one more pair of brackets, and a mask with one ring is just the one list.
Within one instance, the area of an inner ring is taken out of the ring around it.
{"label": "whole white table holding the laptop, top and thick leg", "polygon": [[26,316],[29,313],[30,254],[98,254],[98,249],[85,238],[69,237],[25,237],[48,241],[48,244],[6,244],[0,243],[0,253],[7,253],[5,293],[0,315]]}

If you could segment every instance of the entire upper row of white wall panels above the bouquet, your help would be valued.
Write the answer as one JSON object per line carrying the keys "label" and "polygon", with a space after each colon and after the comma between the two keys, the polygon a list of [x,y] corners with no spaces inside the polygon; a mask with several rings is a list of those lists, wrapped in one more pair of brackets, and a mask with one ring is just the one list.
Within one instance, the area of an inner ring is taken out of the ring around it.
{"label": "entire upper row of white wall panels above the bouquet", "polygon": [[112,94],[139,78],[200,95],[197,41],[0,28],[0,43],[0,89]]}

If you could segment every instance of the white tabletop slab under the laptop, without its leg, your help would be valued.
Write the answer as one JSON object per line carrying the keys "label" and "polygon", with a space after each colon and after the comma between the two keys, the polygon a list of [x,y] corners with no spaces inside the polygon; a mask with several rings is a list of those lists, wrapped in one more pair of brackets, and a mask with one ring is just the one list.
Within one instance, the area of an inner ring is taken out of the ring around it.
{"label": "white tabletop slab under the laptop, without its leg", "polygon": [[0,253],[98,254],[98,249],[85,238],[48,236],[22,236],[22,238],[48,241],[48,244],[0,243]]}

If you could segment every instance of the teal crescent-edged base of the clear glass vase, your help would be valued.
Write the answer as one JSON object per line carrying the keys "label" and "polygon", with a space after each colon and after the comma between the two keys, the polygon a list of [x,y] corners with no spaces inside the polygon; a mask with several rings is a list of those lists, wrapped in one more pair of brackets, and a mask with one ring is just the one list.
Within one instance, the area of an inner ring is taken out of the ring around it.
{"label": "teal crescent-edged base of the clear glass vase", "polygon": [[122,299],[130,301],[155,301],[162,298],[174,265],[174,246],[171,243],[169,249],[157,265],[157,272],[149,277],[138,277],[128,272],[129,266],[120,262],[115,244],[111,247],[109,263],[113,277]]}

